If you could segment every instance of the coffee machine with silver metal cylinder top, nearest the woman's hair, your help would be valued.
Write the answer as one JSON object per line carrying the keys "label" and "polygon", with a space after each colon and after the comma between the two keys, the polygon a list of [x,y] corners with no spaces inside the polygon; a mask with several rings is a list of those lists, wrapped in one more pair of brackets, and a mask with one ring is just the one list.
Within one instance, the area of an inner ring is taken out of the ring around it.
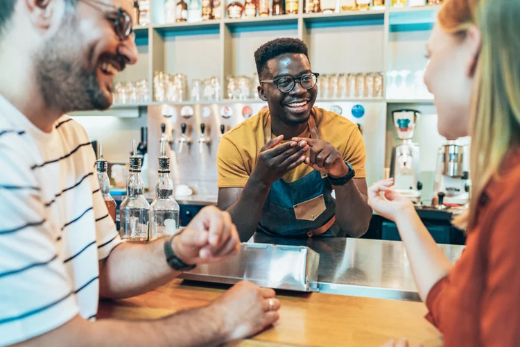
{"label": "coffee machine with silver metal cylinder top, nearest the woman's hair", "polygon": [[469,201],[466,149],[466,146],[460,146],[454,140],[448,140],[439,149],[435,174],[437,208],[464,206]]}

